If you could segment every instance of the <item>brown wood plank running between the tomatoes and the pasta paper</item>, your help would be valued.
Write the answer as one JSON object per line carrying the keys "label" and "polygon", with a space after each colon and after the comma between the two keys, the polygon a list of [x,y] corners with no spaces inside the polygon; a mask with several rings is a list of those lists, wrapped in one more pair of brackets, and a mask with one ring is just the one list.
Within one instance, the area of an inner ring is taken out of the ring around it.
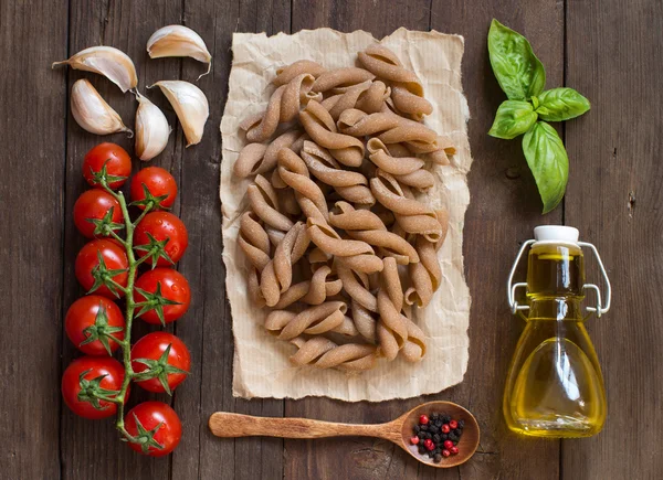
{"label": "brown wood plank running between the tomatoes and the pasta paper", "polygon": [[[210,434],[207,423],[210,414],[219,409],[283,416],[283,401],[245,402],[232,397],[232,320],[221,260],[219,125],[228,94],[232,32],[290,31],[290,2],[251,0],[219,4],[187,0],[183,20],[206,40],[213,55],[213,68],[198,82],[210,103],[203,140],[187,149],[182,157],[181,216],[188,226],[193,252],[182,258],[179,268],[189,279],[196,298],[187,321],[178,322],[176,328],[193,353],[194,371],[175,397],[176,410],[186,428],[182,444],[172,457],[172,477],[281,479],[282,440],[222,440]],[[185,62],[183,79],[192,82],[199,73],[196,62]]]}

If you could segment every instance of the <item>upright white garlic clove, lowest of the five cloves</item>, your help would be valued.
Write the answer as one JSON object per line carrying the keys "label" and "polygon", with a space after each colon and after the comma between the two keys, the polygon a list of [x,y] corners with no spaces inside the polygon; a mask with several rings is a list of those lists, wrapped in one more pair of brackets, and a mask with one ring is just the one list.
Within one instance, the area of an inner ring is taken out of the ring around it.
{"label": "upright white garlic clove, lowest of the five cloves", "polygon": [[170,126],[164,113],[147,97],[136,93],[136,154],[140,160],[151,160],[168,145]]}

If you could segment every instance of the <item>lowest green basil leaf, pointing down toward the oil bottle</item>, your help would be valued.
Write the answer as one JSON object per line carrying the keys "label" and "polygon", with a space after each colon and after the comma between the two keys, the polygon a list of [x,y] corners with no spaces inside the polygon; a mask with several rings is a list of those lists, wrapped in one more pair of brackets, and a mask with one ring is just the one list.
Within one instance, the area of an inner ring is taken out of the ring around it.
{"label": "lowest green basil leaf, pointing down toward the oil bottle", "polygon": [[534,174],[544,213],[555,209],[566,191],[569,158],[557,131],[545,121],[537,121],[523,137],[523,152]]}

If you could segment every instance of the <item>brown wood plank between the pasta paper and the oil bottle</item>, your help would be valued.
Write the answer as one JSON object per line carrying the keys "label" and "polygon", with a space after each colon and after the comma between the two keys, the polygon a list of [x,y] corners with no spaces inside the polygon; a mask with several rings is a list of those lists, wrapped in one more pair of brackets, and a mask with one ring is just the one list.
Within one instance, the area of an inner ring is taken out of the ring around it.
{"label": "brown wood plank between the pasta paper and the oil bottle", "polygon": [[[530,1],[520,9],[502,1],[467,4],[433,1],[431,26],[465,38],[463,88],[470,105],[471,204],[465,217],[464,253],[472,294],[470,362],[465,380],[442,392],[475,413],[482,427],[480,454],[462,466],[464,479],[557,479],[559,442],[524,439],[508,433],[502,415],[504,382],[523,331],[506,305],[504,285],[519,243],[538,224],[561,222],[562,209],[540,215],[540,200],[522,152],[520,139],[487,136],[498,105],[506,99],[491,70],[486,38],[491,20],[523,33],[544,63],[547,85],[564,73],[564,6]],[[523,277],[524,278],[524,277]]]}

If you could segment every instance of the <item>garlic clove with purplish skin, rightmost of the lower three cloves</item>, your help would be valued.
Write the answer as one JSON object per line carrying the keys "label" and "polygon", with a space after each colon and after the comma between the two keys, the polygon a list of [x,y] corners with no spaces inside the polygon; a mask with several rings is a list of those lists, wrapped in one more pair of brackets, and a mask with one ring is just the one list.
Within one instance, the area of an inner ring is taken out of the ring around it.
{"label": "garlic clove with purplish skin, rightmost of the lower three cloves", "polygon": [[177,118],[182,124],[187,147],[200,143],[204,122],[210,115],[207,97],[200,88],[189,82],[161,81],[148,88],[158,86],[175,108]]}

